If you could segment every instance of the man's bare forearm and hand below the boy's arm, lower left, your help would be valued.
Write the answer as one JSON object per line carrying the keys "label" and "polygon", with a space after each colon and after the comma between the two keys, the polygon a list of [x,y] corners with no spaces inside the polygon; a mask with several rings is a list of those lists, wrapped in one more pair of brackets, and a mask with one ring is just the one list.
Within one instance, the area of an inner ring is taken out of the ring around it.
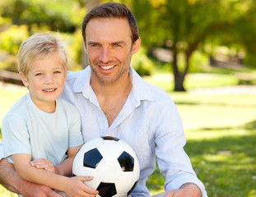
{"label": "man's bare forearm and hand below the boy's arm, lower left", "polygon": [[7,190],[21,194],[24,197],[61,197],[61,195],[58,195],[49,187],[40,186],[21,179],[16,173],[13,164],[9,163],[6,158],[2,158],[0,161],[0,183]]}

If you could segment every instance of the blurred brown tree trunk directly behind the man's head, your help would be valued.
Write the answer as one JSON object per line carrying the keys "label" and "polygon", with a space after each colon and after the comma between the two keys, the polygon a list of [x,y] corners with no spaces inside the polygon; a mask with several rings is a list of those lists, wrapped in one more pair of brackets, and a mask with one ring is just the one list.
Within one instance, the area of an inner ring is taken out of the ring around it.
{"label": "blurred brown tree trunk directly behind the man's head", "polygon": [[[101,2],[101,0],[86,0],[86,13],[91,11],[91,9],[93,7],[99,6],[100,2]],[[83,68],[86,68],[86,66],[88,66],[88,64],[89,64],[88,57],[87,57],[87,54],[85,53],[83,44],[81,44],[81,59],[80,59],[80,62],[81,62],[81,66]]]}

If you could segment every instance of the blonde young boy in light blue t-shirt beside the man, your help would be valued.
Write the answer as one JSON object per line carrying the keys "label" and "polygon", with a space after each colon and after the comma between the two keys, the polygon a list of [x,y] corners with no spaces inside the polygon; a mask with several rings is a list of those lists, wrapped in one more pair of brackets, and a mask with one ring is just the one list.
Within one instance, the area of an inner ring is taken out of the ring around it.
{"label": "blonde young boy in light blue t-shirt beside the man", "polygon": [[80,115],[58,98],[67,78],[63,43],[49,34],[34,34],[21,44],[18,63],[29,93],[2,121],[5,156],[21,178],[79,196],[88,189],[85,177],[67,176],[83,144]]}

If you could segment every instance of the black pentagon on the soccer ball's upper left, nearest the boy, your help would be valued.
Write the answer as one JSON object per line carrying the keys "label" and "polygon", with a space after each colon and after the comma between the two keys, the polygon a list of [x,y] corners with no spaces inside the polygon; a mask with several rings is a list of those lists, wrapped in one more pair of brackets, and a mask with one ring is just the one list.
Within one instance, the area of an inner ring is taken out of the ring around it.
{"label": "black pentagon on the soccer ball's upper left, nearest the boy", "polygon": [[91,149],[84,154],[84,167],[96,168],[102,158],[98,149]]}

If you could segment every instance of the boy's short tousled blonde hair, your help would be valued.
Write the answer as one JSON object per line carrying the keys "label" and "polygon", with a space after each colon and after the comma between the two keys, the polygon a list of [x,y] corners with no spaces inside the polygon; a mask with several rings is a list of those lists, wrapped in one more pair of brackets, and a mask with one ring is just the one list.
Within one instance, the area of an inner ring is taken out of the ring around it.
{"label": "boy's short tousled blonde hair", "polygon": [[30,63],[40,59],[47,59],[53,53],[58,53],[60,62],[67,69],[67,55],[64,42],[50,34],[33,34],[24,40],[18,52],[19,71],[24,76],[30,71]]}

